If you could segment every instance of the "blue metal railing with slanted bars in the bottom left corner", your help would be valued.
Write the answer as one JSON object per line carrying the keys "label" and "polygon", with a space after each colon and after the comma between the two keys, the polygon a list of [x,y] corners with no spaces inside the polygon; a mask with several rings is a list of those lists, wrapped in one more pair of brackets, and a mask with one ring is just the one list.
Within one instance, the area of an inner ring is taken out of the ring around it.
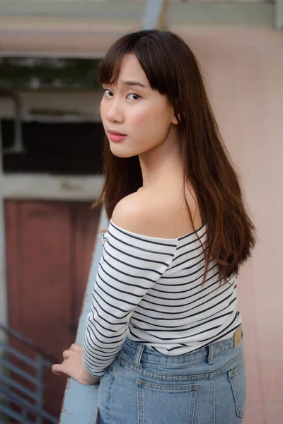
{"label": "blue metal railing with slanted bars in the bottom left corner", "polygon": [[[21,424],[58,423],[58,419],[44,410],[43,405],[43,369],[57,362],[45,355],[35,344],[17,331],[0,324],[0,331],[6,334],[7,341],[0,341],[0,422],[1,419],[13,419]],[[28,346],[35,352],[31,359],[8,343],[8,338],[14,338],[23,346]],[[18,363],[21,361],[23,366]],[[26,365],[33,370],[25,370]],[[22,369],[24,368],[24,369]],[[21,378],[21,382],[18,378]],[[26,387],[26,385],[28,387]],[[34,390],[30,389],[30,384]],[[16,408],[14,407],[16,406]]]}

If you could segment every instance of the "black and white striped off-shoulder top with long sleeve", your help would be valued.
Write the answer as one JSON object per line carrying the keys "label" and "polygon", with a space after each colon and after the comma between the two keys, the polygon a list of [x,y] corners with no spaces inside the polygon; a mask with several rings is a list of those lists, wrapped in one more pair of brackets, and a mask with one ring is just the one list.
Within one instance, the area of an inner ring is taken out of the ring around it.
{"label": "black and white striped off-shoulder top with long sleeve", "polygon": [[[205,247],[206,224],[197,230]],[[126,336],[165,355],[196,351],[233,336],[241,324],[236,274],[219,288],[196,232],[166,239],[139,235],[110,220],[103,234],[83,341],[83,365],[102,377]]]}

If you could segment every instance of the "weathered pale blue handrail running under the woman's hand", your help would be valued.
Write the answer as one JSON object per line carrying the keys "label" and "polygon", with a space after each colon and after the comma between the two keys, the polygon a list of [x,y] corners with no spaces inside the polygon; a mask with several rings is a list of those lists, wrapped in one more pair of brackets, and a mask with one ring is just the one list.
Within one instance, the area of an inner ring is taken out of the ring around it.
{"label": "weathered pale blue handrail running under the woman's hand", "polygon": [[[94,246],[91,271],[89,273],[88,284],[86,286],[86,295],[84,297],[81,317],[79,319],[78,332],[76,334],[76,343],[79,345],[83,344],[83,335],[86,328],[86,317],[88,312],[91,310],[91,290],[93,289],[98,263],[103,252],[101,238],[107,227],[108,218],[106,216],[105,209],[103,208],[98,224],[98,232]],[[76,380],[69,378],[64,393],[59,423],[95,424],[98,387],[99,383],[93,384],[92,386],[84,386],[83,384],[76,382]]]}

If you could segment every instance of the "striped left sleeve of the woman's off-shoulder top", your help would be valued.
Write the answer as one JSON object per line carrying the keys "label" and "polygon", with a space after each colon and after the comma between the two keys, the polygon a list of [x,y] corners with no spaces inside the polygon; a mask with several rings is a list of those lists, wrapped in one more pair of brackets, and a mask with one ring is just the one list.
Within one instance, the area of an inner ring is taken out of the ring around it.
{"label": "striped left sleeve of the woman's off-shoulder top", "polygon": [[102,377],[115,359],[135,307],[171,264],[175,248],[174,240],[125,232],[110,221],[83,339],[89,374]]}

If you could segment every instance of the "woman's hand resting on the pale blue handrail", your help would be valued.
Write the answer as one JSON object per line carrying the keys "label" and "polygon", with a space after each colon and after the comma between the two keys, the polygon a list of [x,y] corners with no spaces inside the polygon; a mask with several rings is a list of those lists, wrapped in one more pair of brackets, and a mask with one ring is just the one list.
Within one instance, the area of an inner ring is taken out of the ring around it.
{"label": "woman's hand resting on the pale blue handrail", "polygon": [[52,365],[52,372],[56,375],[67,374],[81,384],[96,384],[100,381],[100,377],[86,372],[83,367],[83,348],[76,343],[73,343],[69,349],[63,352],[62,364]]}

